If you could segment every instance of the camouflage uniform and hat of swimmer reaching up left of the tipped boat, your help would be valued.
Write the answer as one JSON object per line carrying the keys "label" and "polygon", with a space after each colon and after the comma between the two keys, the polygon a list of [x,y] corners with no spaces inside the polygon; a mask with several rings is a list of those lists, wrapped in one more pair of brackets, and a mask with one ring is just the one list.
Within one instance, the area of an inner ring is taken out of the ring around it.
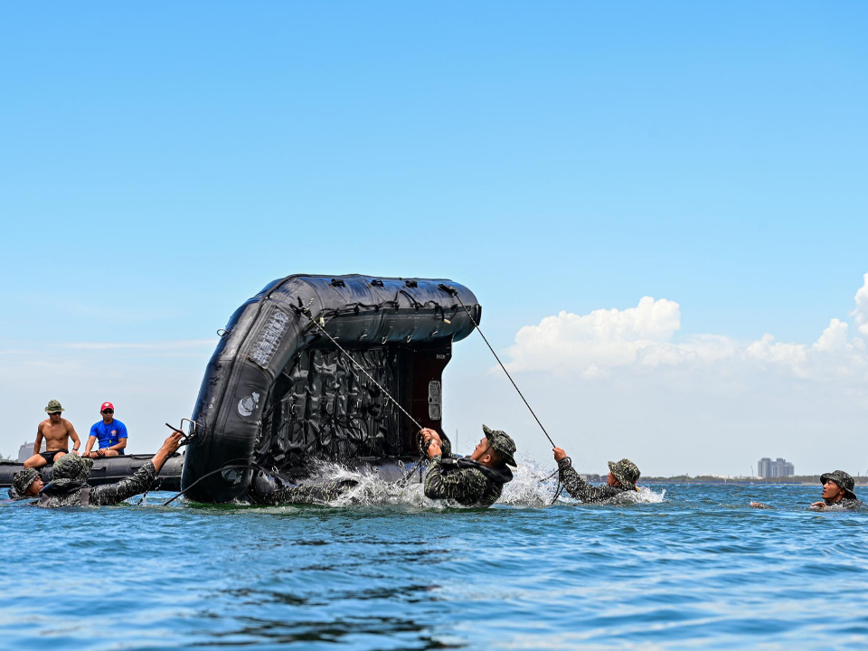
{"label": "camouflage uniform and hat of swimmer reaching up left of the tipped boat", "polygon": [[156,468],[150,460],[133,475],[106,486],[88,486],[93,459],[68,454],[54,464],[52,483],[42,488],[40,499],[33,502],[42,508],[59,506],[107,506],[145,493],[156,479]]}

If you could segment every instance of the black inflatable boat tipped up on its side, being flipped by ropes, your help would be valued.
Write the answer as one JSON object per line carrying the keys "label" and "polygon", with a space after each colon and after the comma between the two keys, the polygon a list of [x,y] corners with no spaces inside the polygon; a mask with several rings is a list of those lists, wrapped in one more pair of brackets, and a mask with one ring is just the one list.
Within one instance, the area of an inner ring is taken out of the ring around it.
{"label": "black inflatable boat tipped up on its side, being flipped by ropes", "polygon": [[481,311],[447,279],[270,283],[220,332],[193,410],[185,495],[222,503],[268,490],[251,487],[263,470],[309,481],[317,460],[401,476],[396,468],[419,455],[417,427],[385,392],[442,431],[443,369]]}

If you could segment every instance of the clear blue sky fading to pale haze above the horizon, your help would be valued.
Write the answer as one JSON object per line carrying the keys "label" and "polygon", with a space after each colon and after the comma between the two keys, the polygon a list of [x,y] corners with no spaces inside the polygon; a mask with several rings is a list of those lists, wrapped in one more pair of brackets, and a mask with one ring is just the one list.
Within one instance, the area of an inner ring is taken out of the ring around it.
{"label": "clear blue sky fading to pale haze above the horizon", "polygon": [[[216,329],[298,272],[454,278],[501,352],[547,316],[646,296],[678,304],[666,345],[810,348],[832,318],[855,345],[866,19],[792,2],[7,6],[0,450],[32,439],[49,398],[82,433],[115,394],[156,446],[193,409]],[[516,379],[587,469],[637,450],[646,473],[759,456],[821,471],[840,458],[811,449],[832,420],[868,457],[853,350],[848,380],[740,366],[756,386],[723,397],[581,365]],[[448,429],[490,420],[548,462],[491,363],[458,344]],[[661,386],[660,412],[642,409]],[[813,410],[796,418],[795,395]]]}

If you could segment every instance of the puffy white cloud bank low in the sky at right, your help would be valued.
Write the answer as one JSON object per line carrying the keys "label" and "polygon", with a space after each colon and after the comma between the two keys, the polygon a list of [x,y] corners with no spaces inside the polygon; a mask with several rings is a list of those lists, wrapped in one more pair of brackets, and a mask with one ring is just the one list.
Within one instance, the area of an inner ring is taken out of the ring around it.
{"label": "puffy white cloud bank low in the sky at right", "polygon": [[[856,294],[854,316],[868,329],[868,274]],[[510,371],[579,373],[593,380],[615,370],[653,373],[673,367],[685,371],[713,367],[722,373],[775,371],[798,379],[827,381],[864,377],[866,345],[848,340],[849,324],[833,318],[813,344],[779,342],[774,335],[737,342],[726,335],[688,335],[673,342],[681,328],[681,308],[665,298],[643,297],[637,307],[599,309],[587,315],[562,311],[539,325],[524,326],[507,354]]]}

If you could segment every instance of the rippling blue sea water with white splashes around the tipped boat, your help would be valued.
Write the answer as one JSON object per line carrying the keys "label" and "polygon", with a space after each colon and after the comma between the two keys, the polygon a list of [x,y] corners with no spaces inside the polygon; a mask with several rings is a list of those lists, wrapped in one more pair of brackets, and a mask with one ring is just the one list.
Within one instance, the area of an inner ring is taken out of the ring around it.
{"label": "rippling blue sea water with white splashes around the tipped boat", "polygon": [[[171,494],[0,505],[4,649],[830,649],[868,641],[868,513],[820,486],[645,486],[443,508],[367,480],[341,505]],[[751,500],[776,505],[751,509]]]}

